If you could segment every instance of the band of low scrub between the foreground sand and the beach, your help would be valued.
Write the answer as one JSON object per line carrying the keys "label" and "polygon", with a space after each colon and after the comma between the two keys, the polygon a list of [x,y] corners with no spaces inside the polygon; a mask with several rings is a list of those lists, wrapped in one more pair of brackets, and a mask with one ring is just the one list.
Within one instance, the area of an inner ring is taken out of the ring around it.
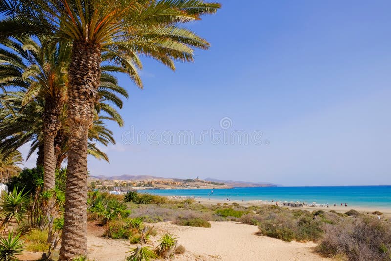
{"label": "band of low scrub between the foreground sand and the beach", "polygon": [[[210,221],[239,221],[258,226],[260,235],[287,242],[292,240],[318,242],[317,251],[323,256],[338,255],[348,260],[391,260],[391,222],[379,220],[377,216],[382,213],[378,211],[372,214],[361,214],[354,209],[339,213],[334,210],[328,212],[291,210],[274,205],[250,207],[240,206],[237,203],[202,205],[192,199],[174,201],[135,191],[128,193],[123,199],[120,196],[105,194],[99,196],[90,194],[91,197],[100,198],[99,200],[104,202],[105,200],[120,202],[113,204],[118,207],[117,210],[109,211],[115,213],[113,217],[116,218],[107,222],[105,235],[110,238],[130,239],[131,243],[138,243],[142,238],[138,221],[147,223],[172,221],[181,226],[205,228],[211,227]],[[122,200],[126,202],[126,210],[123,209]],[[108,215],[104,214],[105,208],[99,206],[100,203],[98,208],[88,208],[90,218],[99,219],[104,223]],[[97,211],[99,209],[103,212]],[[127,217],[124,217],[123,212]],[[180,249],[177,251],[181,252]]]}

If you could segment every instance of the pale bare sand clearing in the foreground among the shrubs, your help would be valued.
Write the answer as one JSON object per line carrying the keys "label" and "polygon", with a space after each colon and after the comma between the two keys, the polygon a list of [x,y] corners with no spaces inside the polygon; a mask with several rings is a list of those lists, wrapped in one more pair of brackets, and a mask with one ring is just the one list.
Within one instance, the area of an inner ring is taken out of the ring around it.
{"label": "pale bare sand clearing in the foreground among the shrubs", "polygon": [[[255,235],[256,226],[237,222],[211,222],[211,228],[177,226],[170,222],[155,225],[159,232],[171,232],[186,248],[175,261],[317,261],[326,260],[313,252],[314,243],[283,242]],[[88,225],[89,259],[123,261],[126,252],[136,245],[126,240],[105,239],[103,229]],[[156,241],[157,237],[152,237]]]}

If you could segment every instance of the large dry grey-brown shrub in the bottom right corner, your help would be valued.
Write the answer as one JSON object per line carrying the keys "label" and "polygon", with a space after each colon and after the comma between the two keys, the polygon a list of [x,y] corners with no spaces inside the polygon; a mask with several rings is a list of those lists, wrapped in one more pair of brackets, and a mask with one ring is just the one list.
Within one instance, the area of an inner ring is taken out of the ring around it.
{"label": "large dry grey-brown shrub in the bottom right corner", "polygon": [[326,224],[318,246],[323,256],[345,255],[351,261],[390,261],[391,224],[370,216],[346,218],[337,226]]}

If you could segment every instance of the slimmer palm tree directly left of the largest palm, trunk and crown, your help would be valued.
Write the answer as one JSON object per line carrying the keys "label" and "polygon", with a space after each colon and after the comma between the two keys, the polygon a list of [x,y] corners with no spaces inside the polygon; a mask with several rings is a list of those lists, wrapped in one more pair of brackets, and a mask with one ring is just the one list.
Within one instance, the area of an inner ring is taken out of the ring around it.
{"label": "slimmer palm tree directly left of the largest palm, trunk and crown", "polygon": [[[56,152],[54,138],[60,128],[60,115],[66,94],[67,67],[70,54],[69,43],[60,42],[41,49],[40,44],[30,37],[19,41],[4,39],[0,43],[2,74],[8,75],[0,83],[25,88],[22,106],[41,100],[43,104],[42,136],[44,151],[44,189],[54,189]],[[42,41],[42,39],[41,39]],[[58,152],[57,152],[58,153]]]}

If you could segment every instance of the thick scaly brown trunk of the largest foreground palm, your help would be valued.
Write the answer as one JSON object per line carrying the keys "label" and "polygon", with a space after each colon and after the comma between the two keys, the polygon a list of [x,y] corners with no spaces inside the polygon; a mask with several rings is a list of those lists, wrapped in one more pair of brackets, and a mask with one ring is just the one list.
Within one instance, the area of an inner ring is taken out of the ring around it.
{"label": "thick scaly brown trunk of the largest foreground palm", "polygon": [[87,141],[100,80],[100,46],[74,42],[68,75],[69,157],[59,261],[87,256]]}

